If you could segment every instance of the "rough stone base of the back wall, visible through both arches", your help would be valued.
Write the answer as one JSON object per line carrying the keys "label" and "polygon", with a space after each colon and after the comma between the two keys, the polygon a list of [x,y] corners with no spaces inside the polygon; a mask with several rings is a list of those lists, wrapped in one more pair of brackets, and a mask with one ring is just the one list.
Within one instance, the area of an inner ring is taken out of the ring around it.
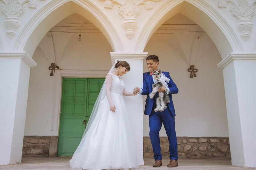
{"label": "rough stone base of the back wall, visible through both arches", "polygon": [[[179,158],[230,158],[229,139],[222,137],[177,137]],[[58,136],[24,136],[22,155],[57,156]],[[160,137],[161,153],[169,156],[169,141]],[[144,137],[144,157],[153,157],[149,137]]]}

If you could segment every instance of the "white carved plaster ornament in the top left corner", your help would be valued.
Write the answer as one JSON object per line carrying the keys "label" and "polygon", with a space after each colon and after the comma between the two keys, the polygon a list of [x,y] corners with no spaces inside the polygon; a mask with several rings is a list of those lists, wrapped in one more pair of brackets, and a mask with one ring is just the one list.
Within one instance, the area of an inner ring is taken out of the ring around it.
{"label": "white carved plaster ornament in the top left corner", "polygon": [[[28,3],[28,8],[37,8],[37,1],[36,0],[1,0],[3,1],[4,5],[1,6],[1,11],[5,14],[5,27],[7,29],[6,35],[10,39],[16,33],[16,30],[20,26],[19,17],[25,11],[25,3]],[[44,1],[44,0],[41,0]]]}

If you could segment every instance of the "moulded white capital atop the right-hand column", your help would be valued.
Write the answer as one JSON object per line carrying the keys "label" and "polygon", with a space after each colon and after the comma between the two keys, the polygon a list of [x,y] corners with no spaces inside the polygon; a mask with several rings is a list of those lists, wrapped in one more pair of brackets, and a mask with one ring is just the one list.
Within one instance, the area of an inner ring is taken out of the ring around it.
{"label": "moulded white capital atop the right-hand column", "polygon": [[222,59],[217,66],[219,68],[224,68],[233,60],[255,60],[256,53],[230,53],[224,59]]}

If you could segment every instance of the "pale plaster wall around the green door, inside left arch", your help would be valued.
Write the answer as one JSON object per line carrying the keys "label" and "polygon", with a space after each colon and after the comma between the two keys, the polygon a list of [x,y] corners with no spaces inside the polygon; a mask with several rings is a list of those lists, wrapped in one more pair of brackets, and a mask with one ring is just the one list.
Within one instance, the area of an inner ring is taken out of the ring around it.
{"label": "pale plaster wall around the green door, inside left arch", "polygon": [[[74,14],[61,22],[80,19],[85,20]],[[33,55],[37,66],[30,72],[24,135],[58,135],[58,131],[51,131],[55,75],[50,76],[48,69],[55,58],[60,69],[109,70],[112,65],[112,48],[102,33],[81,33],[78,42],[79,33],[52,32],[55,54],[49,35],[45,35]]]}

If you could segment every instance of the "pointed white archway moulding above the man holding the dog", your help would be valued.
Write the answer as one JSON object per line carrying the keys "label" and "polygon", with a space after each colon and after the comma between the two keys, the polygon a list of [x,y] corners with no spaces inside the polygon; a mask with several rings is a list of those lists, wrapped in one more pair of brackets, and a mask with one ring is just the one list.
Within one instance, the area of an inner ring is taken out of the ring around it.
{"label": "pointed white archway moulding above the man holding the dog", "polygon": [[226,20],[209,4],[197,0],[167,1],[159,7],[143,27],[135,46],[135,51],[143,51],[156,29],[178,13],[193,20],[207,32],[222,58],[226,57],[230,52],[243,51],[236,33]]}

